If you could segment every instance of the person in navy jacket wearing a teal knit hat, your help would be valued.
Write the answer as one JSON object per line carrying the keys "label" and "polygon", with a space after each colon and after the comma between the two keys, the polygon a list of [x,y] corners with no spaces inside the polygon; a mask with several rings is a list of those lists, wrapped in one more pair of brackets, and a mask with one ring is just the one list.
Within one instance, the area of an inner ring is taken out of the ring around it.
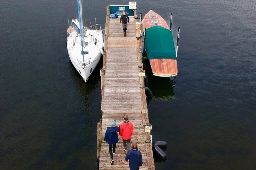
{"label": "person in navy jacket wearing a teal knit hat", "polygon": [[[105,137],[104,137],[104,141],[107,141],[108,143],[108,149],[109,149],[109,153],[110,153],[110,165],[113,165],[114,163],[114,159],[113,159],[113,154],[116,154],[116,144],[118,142],[118,135],[117,132],[119,132],[119,127],[115,126],[116,125],[116,121],[112,120],[111,121],[111,127],[107,127],[106,133],[105,133]],[[113,153],[112,153],[112,149],[113,149]]]}

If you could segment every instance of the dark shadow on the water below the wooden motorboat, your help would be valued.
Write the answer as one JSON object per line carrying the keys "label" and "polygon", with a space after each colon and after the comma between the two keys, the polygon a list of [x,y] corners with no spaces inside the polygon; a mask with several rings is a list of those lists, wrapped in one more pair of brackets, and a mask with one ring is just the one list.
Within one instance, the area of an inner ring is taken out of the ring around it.
{"label": "dark shadow on the water below the wooden motorboat", "polygon": [[143,66],[146,76],[149,80],[149,89],[156,100],[175,99],[174,87],[175,78],[153,76],[151,66],[148,59],[143,60]]}

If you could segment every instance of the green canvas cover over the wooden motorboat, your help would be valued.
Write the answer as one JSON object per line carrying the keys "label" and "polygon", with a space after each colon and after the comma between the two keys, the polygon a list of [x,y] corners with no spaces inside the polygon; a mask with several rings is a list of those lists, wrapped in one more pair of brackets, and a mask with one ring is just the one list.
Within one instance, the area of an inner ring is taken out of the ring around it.
{"label": "green canvas cover over the wooden motorboat", "polygon": [[176,59],[172,32],[162,26],[146,29],[145,47],[149,59]]}

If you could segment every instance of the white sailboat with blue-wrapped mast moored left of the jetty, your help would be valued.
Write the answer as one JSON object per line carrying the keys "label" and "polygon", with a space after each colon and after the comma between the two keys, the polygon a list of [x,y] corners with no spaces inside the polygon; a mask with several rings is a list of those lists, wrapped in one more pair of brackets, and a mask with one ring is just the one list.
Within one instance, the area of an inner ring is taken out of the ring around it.
{"label": "white sailboat with blue-wrapped mast moored left of the jetty", "polygon": [[83,26],[81,0],[77,3],[78,20],[72,20],[73,25],[67,29],[67,49],[73,66],[87,82],[101,59],[104,42],[101,26],[96,21],[91,29]]}

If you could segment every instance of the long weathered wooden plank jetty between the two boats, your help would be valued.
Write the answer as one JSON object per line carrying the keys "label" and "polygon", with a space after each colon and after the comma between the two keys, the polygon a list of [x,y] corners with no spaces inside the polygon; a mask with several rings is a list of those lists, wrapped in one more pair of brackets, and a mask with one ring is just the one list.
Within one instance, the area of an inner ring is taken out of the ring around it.
{"label": "long weathered wooden plank jetty between the two boats", "polygon": [[[101,69],[101,117],[97,123],[97,159],[99,169],[129,169],[126,164],[126,152],[123,150],[122,138],[114,154],[114,164],[110,165],[108,144],[104,134],[111,120],[116,120],[117,126],[123,120],[123,115],[129,116],[133,123],[134,134],[131,142],[136,141],[142,153],[143,165],[140,169],[155,169],[150,133],[145,132],[149,125],[144,76],[142,71],[140,23],[134,17],[130,18],[126,37],[120,25],[120,18],[109,18],[110,9],[107,6],[106,34],[104,35],[103,68]],[[118,134],[119,135],[119,134]]]}

